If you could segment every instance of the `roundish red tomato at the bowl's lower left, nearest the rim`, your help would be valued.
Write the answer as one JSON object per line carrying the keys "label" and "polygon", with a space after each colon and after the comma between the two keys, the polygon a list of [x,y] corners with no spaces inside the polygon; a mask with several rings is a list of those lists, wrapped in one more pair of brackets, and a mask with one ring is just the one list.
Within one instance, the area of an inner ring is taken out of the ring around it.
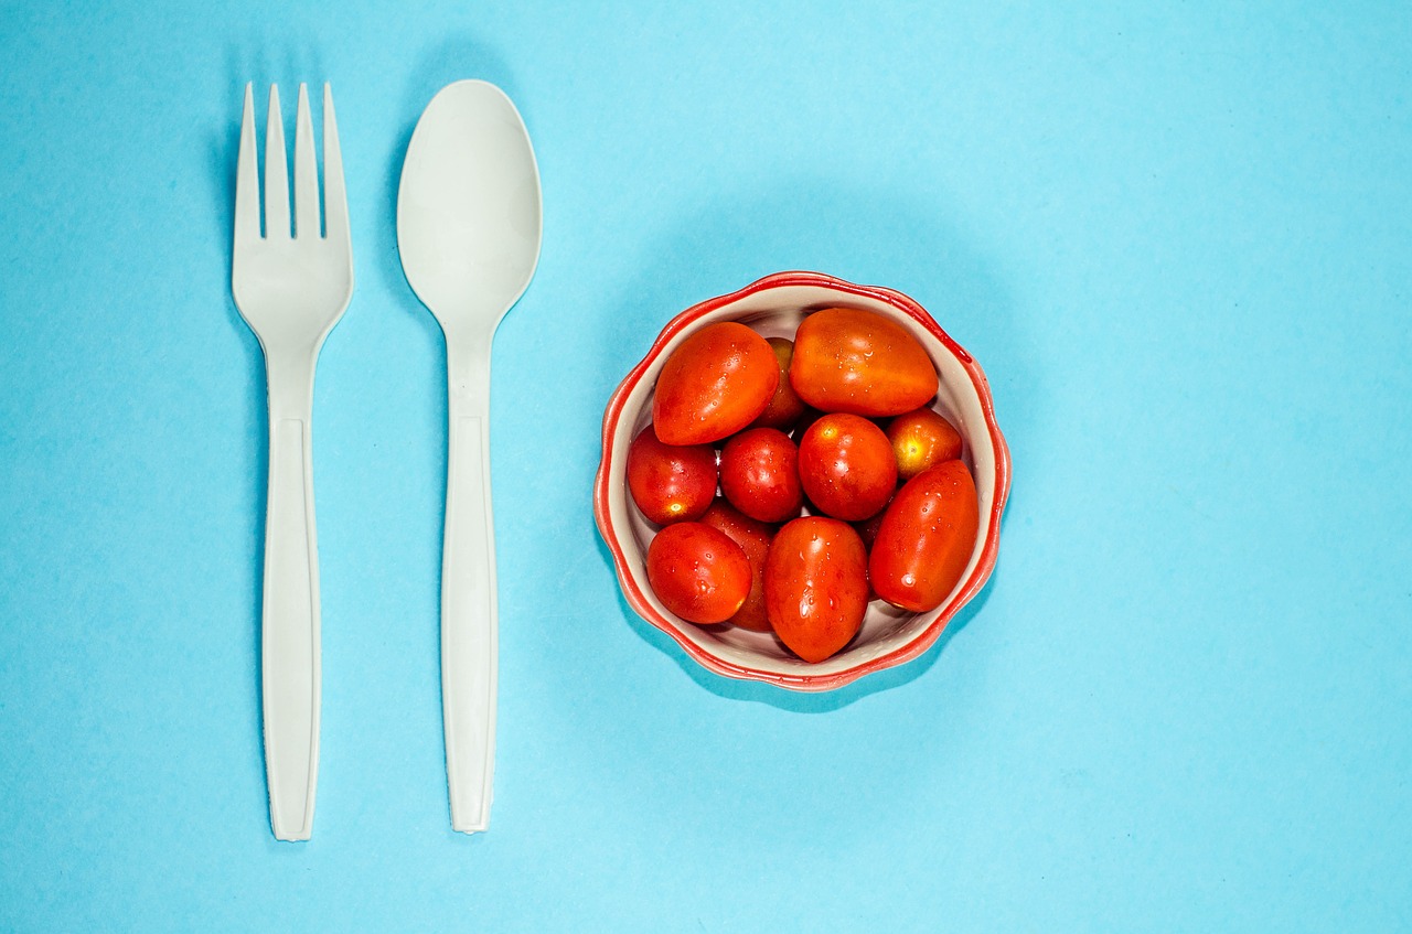
{"label": "roundish red tomato at the bowl's lower left, nearest the rim", "polygon": [[726,622],[750,595],[750,560],[720,529],[678,522],[647,546],[647,583],[682,619]]}

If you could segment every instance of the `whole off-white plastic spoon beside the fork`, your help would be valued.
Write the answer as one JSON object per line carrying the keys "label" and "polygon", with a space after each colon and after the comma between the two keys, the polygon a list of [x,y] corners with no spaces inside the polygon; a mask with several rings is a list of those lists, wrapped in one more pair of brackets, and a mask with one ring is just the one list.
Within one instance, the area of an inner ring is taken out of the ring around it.
{"label": "whole off-white plastic spoon beside the fork", "polygon": [[443,87],[402,164],[397,248],[446,337],[442,718],[450,824],[490,823],[496,760],[496,538],[490,511],[490,344],[539,260],[539,171],[503,90]]}

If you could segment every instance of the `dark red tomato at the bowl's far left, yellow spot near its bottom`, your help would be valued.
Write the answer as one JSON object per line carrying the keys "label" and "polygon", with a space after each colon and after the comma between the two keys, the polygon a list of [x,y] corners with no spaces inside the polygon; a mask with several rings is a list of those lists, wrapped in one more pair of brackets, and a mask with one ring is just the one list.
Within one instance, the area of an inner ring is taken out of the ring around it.
{"label": "dark red tomato at the bowl's far left, yellow spot near its bottom", "polygon": [[648,425],[627,449],[627,490],[658,525],[699,519],[716,498],[716,449],[664,444]]}

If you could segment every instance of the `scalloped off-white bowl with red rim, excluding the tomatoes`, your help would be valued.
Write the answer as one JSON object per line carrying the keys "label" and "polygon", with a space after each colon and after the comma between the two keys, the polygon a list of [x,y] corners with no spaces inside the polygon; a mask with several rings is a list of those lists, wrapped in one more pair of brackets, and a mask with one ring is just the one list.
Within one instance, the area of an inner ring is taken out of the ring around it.
{"label": "scalloped off-white bowl with red rim, excluding the tomatoes", "polygon": [[[908,330],[936,365],[939,389],[931,406],[962,435],[962,459],[976,480],[980,530],[970,563],[939,607],[909,612],[874,600],[858,635],[823,662],[796,657],[771,632],[730,625],[699,626],[668,611],[647,583],[647,546],[658,532],[627,490],[627,451],[652,420],[652,391],[666,357],[706,325],[733,320],[765,337],[794,339],[812,312],[858,308],[877,312]],[[703,667],[726,677],[765,681],[795,691],[827,691],[864,674],[922,655],[946,624],[990,577],[1000,547],[1000,518],[1010,494],[1010,450],[995,422],[990,385],[980,364],[911,298],[875,285],[854,285],[822,272],[777,272],[738,292],[686,309],[662,329],[647,356],[623,378],[603,413],[603,459],[593,485],[593,515],[613,553],[618,586],[628,605],[669,635]]]}

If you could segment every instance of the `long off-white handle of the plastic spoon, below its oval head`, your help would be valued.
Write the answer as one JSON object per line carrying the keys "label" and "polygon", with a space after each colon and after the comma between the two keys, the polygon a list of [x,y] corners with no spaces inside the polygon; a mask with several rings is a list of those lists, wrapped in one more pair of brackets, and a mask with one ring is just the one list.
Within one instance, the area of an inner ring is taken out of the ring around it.
{"label": "long off-white handle of the plastic spoon, below its oval head", "polygon": [[496,765],[496,533],[490,508],[490,348],[446,343],[442,721],[452,830],[490,824]]}

